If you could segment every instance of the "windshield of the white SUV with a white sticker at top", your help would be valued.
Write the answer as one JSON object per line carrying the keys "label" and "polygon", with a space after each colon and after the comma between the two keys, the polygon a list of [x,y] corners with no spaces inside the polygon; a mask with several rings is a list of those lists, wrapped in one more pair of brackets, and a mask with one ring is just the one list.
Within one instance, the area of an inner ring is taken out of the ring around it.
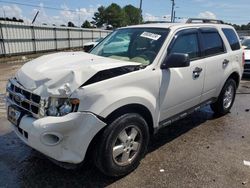
{"label": "windshield of the white SUV with a white sticker at top", "polygon": [[158,54],[168,29],[126,28],[114,31],[90,52],[113,59],[151,64]]}

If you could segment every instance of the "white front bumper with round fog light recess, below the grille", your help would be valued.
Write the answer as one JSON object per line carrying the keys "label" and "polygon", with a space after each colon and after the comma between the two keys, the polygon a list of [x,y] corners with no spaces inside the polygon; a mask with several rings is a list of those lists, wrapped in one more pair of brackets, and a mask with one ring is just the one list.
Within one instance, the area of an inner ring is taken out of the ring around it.
{"label": "white front bumper with round fog light recess, below the grille", "polygon": [[22,117],[18,137],[30,147],[60,162],[80,163],[91,140],[106,124],[92,113],[76,112],[62,117]]}

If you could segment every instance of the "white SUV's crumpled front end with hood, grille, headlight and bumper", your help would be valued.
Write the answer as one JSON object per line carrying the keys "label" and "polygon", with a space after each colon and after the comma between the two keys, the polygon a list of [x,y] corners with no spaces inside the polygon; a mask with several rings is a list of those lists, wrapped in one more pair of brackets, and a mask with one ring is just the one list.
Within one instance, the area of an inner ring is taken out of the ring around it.
{"label": "white SUV's crumpled front end with hood, grille, headlight and bumper", "polygon": [[[58,63],[62,60],[62,65]],[[80,163],[103,119],[80,108],[86,85],[139,70],[139,64],[83,53],[60,53],[26,63],[6,87],[7,117],[17,136],[60,162]]]}

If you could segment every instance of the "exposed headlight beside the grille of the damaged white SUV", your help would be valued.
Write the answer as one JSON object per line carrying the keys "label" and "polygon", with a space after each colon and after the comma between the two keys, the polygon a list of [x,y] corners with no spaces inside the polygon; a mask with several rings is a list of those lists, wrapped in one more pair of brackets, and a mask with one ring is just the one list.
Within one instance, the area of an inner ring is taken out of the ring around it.
{"label": "exposed headlight beside the grille of the damaged white SUV", "polygon": [[49,99],[47,109],[48,116],[64,116],[71,112],[76,112],[79,106],[79,99],[55,98]]}

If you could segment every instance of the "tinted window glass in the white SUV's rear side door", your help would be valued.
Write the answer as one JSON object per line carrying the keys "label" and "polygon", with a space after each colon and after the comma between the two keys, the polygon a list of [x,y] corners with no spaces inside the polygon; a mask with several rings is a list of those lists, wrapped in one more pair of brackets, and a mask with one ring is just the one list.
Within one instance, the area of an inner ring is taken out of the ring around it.
{"label": "tinted window glass in the white SUV's rear side door", "polygon": [[205,56],[225,52],[223,41],[217,32],[202,32]]}

